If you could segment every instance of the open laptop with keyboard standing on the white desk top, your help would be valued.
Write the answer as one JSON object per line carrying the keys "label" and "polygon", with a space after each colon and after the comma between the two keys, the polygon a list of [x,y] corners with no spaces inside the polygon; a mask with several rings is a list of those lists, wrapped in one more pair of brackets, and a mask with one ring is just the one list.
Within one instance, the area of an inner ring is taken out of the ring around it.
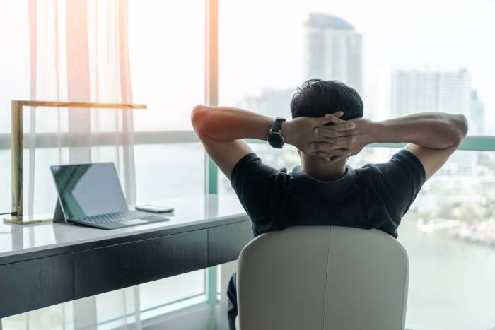
{"label": "open laptop with keyboard standing on the white desk top", "polygon": [[115,229],[168,220],[129,211],[113,163],[51,166],[58,200],[54,222]]}

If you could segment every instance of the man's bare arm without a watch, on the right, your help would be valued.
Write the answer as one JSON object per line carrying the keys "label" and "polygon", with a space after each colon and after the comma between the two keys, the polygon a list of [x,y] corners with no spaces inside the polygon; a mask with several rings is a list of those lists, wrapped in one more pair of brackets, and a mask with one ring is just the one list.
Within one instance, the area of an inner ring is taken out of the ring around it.
{"label": "man's bare arm without a watch, on the right", "polygon": [[[467,120],[462,114],[424,112],[405,117],[371,122],[353,119],[356,143],[348,148],[353,155],[369,143],[409,143],[405,149],[419,158],[429,179],[458,148],[467,134]],[[325,134],[325,132],[323,132]]]}

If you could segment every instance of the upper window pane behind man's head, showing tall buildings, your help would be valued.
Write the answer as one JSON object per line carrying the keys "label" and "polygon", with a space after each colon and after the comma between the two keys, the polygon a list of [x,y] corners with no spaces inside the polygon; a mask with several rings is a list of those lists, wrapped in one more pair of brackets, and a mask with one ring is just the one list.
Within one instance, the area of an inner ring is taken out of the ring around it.
{"label": "upper window pane behind man's head, showing tall buildings", "polygon": [[494,7],[483,0],[220,1],[220,103],[289,117],[303,81],[337,79],[361,93],[372,119],[461,112],[470,134],[487,134],[495,129]]}

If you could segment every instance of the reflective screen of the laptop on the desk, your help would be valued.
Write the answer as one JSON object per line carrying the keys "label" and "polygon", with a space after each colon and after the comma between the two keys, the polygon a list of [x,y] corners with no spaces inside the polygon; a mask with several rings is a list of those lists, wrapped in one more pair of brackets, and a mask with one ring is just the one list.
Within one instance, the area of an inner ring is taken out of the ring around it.
{"label": "reflective screen of the laptop on the desk", "polygon": [[68,219],[127,211],[113,163],[50,167]]}

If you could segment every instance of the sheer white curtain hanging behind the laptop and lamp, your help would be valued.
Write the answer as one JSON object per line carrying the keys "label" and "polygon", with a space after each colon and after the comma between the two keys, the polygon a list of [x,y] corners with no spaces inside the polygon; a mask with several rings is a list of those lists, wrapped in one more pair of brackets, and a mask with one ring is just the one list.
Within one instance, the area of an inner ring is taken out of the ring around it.
{"label": "sheer white curtain hanging behind the laptop and lamp", "polygon": [[[28,0],[26,15],[32,100],[132,103],[127,0]],[[24,195],[29,215],[36,213],[35,200],[44,190],[37,177],[48,175],[45,168],[35,170],[40,168],[37,162],[45,161],[35,148],[40,133],[56,133],[52,164],[114,162],[127,201],[135,203],[132,110],[38,108],[25,117],[30,148]],[[141,328],[137,286],[61,308],[63,329],[93,329],[112,320],[112,327]],[[37,312],[27,313],[24,329],[37,329],[37,317]]]}

